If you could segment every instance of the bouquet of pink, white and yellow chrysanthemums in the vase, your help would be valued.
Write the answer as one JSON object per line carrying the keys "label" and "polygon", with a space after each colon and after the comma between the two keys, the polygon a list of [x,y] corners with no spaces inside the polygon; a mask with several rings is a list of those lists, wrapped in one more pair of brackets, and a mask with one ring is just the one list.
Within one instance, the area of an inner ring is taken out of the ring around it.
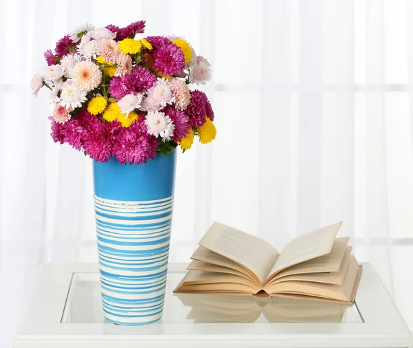
{"label": "bouquet of pink, white and yellow chrysanthemums in the vase", "polygon": [[47,67],[32,78],[36,95],[50,89],[52,138],[96,161],[115,156],[140,164],[180,145],[215,139],[214,113],[204,92],[189,85],[211,79],[211,65],[179,36],[142,34],[145,21],[125,28],[76,28],[47,50]]}

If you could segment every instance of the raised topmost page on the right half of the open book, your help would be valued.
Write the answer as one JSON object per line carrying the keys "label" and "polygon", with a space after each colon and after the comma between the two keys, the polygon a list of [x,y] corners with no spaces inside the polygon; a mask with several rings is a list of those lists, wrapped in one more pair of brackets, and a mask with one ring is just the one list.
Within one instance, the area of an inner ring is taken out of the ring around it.
{"label": "raised topmost page on the right half of the open book", "polygon": [[341,224],[340,221],[337,224],[319,228],[290,241],[279,254],[277,261],[269,272],[269,277],[291,265],[329,254]]}

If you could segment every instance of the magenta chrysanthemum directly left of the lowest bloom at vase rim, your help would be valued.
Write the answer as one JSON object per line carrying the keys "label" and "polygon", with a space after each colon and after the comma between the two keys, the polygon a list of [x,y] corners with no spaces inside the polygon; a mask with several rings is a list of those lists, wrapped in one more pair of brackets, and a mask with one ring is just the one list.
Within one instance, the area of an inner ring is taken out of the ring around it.
{"label": "magenta chrysanthemum directly left of the lowest bloom at vase rim", "polygon": [[118,121],[106,123],[97,117],[89,118],[83,137],[83,149],[93,160],[107,162],[114,155],[114,144],[122,126]]}

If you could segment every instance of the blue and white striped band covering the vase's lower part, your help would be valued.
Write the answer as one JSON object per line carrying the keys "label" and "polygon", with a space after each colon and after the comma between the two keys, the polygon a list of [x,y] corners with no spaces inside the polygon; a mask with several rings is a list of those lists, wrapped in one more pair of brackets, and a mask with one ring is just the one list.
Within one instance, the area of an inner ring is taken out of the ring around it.
{"label": "blue and white striped band covering the vase's lower part", "polygon": [[125,202],[94,196],[103,311],[111,323],[162,317],[173,197]]}

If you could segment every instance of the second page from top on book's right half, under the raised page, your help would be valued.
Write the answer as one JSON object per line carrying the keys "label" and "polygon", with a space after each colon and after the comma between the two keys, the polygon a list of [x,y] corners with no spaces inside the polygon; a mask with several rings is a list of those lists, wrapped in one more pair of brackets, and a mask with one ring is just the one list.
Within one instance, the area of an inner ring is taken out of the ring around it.
{"label": "second page from top on book's right half, under the raised page", "polygon": [[[330,254],[326,254],[321,257],[316,257],[308,261],[298,263],[291,267],[286,268],[268,278],[268,282],[273,282],[276,279],[280,279],[284,276],[290,276],[291,274],[308,274],[308,273],[321,273],[321,272],[338,272],[347,250],[349,238],[337,238],[332,244]],[[349,247],[351,248],[351,247]]]}

